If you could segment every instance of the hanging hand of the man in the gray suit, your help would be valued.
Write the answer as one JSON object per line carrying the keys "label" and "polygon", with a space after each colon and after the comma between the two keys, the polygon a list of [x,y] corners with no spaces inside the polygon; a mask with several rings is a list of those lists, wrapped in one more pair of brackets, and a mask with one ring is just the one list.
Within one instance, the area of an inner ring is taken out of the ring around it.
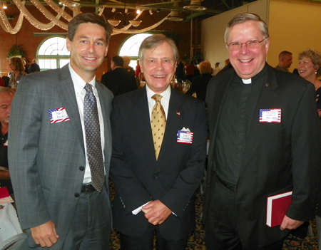
{"label": "hanging hand of the man in the gray suit", "polygon": [[41,247],[51,247],[59,238],[56,233],[56,226],[51,221],[40,226],[31,227],[30,230],[34,242]]}

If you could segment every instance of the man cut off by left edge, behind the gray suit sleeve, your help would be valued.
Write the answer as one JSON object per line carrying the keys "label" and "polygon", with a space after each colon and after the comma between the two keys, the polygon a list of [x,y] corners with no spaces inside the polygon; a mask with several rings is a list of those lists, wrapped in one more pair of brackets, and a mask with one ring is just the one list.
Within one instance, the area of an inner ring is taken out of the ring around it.
{"label": "man cut off by left edge, behind the gray suit sleeve", "polygon": [[14,193],[8,165],[8,130],[14,93],[12,88],[0,87],[0,187],[7,187],[9,194]]}

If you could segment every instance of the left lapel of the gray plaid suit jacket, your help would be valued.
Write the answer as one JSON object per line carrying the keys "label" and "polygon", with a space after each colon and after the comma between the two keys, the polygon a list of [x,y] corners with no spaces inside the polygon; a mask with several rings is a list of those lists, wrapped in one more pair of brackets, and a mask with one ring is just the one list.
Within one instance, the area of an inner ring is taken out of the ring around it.
{"label": "left lapel of the gray plaid suit jacket", "polygon": [[81,120],[79,117],[79,110],[76,100],[75,89],[73,87],[73,80],[69,72],[68,65],[63,66],[58,73],[59,83],[57,84],[57,91],[61,97],[61,103],[63,108],[66,109],[71,124],[73,125],[78,139],[80,140],[81,147],[84,150],[83,145],[83,130],[81,127]]}

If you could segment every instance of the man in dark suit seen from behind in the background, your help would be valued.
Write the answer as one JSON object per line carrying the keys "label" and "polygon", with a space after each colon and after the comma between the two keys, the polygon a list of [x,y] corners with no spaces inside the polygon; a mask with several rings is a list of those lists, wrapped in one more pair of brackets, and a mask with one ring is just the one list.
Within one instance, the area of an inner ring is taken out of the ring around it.
{"label": "man in dark suit seen from behind in the background", "polygon": [[121,56],[113,57],[111,60],[111,71],[103,74],[101,83],[109,88],[114,96],[137,89],[135,75],[125,72]]}

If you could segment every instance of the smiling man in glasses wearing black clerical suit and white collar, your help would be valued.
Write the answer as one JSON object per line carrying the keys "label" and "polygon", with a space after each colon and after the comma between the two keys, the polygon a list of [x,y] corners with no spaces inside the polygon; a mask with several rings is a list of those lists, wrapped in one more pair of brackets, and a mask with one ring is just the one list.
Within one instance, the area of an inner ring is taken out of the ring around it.
{"label": "smiling man in glasses wearing black clerical suit and white collar", "polygon": [[[320,122],[312,84],[265,62],[267,26],[254,14],[228,24],[233,68],[210,80],[210,147],[204,213],[208,249],[282,249],[315,216]],[[292,192],[280,226],[266,223],[267,197]]]}

